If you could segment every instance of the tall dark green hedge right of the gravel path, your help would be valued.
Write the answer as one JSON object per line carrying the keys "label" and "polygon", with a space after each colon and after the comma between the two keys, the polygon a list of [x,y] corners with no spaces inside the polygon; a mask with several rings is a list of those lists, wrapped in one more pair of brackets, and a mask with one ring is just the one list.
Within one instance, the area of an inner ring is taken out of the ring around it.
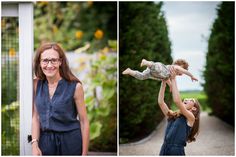
{"label": "tall dark green hedge right of the gravel path", "polygon": [[218,7],[208,41],[204,89],[212,114],[234,125],[234,2]]}

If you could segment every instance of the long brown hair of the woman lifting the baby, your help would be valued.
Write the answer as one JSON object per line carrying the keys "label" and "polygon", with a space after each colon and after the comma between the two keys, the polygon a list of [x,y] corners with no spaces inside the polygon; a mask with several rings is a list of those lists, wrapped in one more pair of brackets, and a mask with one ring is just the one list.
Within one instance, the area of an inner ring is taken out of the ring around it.
{"label": "long brown hair of the woman lifting the baby", "polygon": [[[198,102],[197,99],[194,99],[195,103],[194,103],[194,107],[196,108],[196,110],[192,111],[194,117],[195,117],[195,121],[193,124],[193,127],[191,129],[190,134],[188,135],[188,142],[192,142],[192,141],[196,141],[196,136],[199,134],[199,124],[200,124],[200,103]],[[168,116],[168,120],[171,119],[176,119],[179,116],[181,116],[181,112],[179,110],[177,111],[172,111],[169,110],[169,112],[167,113]]]}

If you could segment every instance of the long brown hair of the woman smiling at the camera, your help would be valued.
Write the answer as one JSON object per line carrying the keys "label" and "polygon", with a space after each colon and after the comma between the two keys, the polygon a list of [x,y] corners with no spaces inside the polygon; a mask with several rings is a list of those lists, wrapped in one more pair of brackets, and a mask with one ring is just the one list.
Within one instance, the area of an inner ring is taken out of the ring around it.
{"label": "long brown hair of the woman smiling at the camera", "polygon": [[57,51],[57,53],[59,54],[59,57],[61,59],[61,65],[59,68],[60,76],[69,82],[76,81],[76,82],[81,83],[81,81],[71,72],[65,52],[57,43],[43,43],[40,45],[40,47],[38,48],[38,50],[36,52],[35,58],[34,58],[35,76],[40,80],[46,79],[46,76],[44,75],[44,73],[40,67],[40,59],[41,59],[41,54],[45,50],[48,50],[48,49],[53,49],[53,50]]}

